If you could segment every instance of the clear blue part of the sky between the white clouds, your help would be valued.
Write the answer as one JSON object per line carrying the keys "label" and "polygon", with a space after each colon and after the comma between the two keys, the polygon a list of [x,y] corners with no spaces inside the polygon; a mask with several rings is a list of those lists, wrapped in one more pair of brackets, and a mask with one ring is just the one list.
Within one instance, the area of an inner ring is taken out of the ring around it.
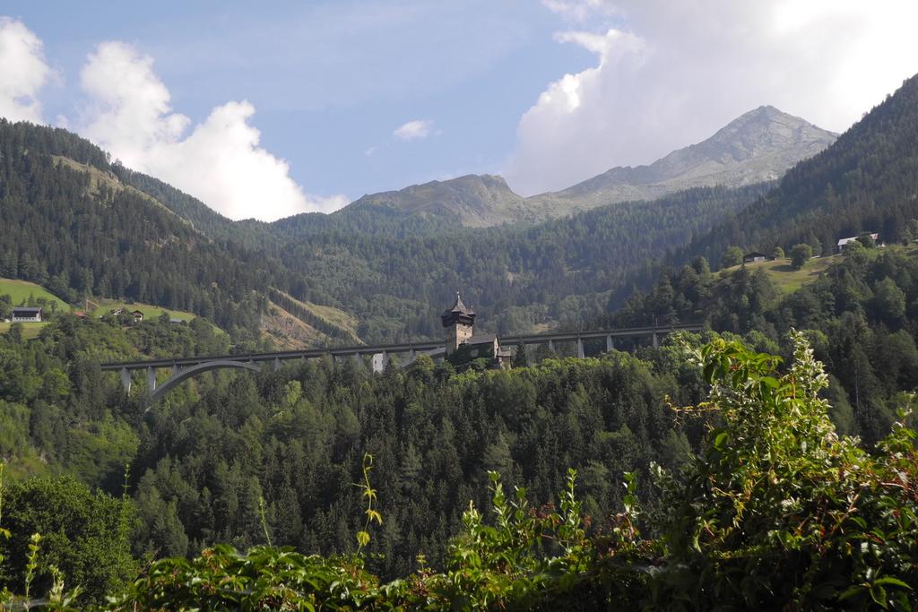
{"label": "clear blue part of the sky between the white clouds", "polygon": [[[122,40],[154,59],[174,109],[194,123],[228,100],[249,100],[263,147],[290,162],[297,183],[357,197],[499,172],[545,84],[593,62],[552,40],[561,24],[538,3],[448,5],[13,2],[4,12],[44,41],[62,72],[42,95],[51,120],[73,117],[84,97],[86,56]],[[434,134],[393,137],[417,118],[430,119]]]}

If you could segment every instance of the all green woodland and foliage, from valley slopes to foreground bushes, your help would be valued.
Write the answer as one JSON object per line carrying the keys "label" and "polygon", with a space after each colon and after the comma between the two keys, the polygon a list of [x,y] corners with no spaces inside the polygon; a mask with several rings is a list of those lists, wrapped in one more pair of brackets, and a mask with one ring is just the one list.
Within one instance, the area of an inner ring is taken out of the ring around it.
{"label": "all green woodland and foliage, from valley slopes to foreground bushes", "polygon": [[[0,601],[915,609],[916,143],[918,77],[775,183],[525,227],[373,206],[267,224],[0,120],[0,277],[196,315],[49,307],[0,334]],[[804,253],[799,284],[726,265],[777,249]],[[704,331],[505,370],[215,371],[152,406],[100,369],[270,349],[278,307],[330,343],[442,338],[456,286],[499,333]]]}

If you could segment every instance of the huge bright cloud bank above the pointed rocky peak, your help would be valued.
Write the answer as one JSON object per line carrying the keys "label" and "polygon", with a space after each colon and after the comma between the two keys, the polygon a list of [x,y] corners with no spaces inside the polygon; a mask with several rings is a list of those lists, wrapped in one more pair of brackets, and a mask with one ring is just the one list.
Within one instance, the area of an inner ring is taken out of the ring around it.
{"label": "huge bright cloud bank above the pointed rocky peak", "polygon": [[506,175],[523,194],[649,163],[765,104],[844,131],[918,72],[901,0],[543,0],[595,65],[521,117]]}

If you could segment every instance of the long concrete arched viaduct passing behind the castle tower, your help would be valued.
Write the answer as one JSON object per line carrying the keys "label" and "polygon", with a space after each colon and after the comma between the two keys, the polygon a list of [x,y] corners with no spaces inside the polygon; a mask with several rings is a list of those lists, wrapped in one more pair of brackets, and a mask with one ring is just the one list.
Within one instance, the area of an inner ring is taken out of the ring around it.
{"label": "long concrete arched viaduct passing behind the castle tower", "polygon": [[[660,337],[673,331],[701,331],[700,325],[676,325],[670,327],[652,328],[622,328],[598,329],[595,331],[571,331],[549,334],[532,334],[527,336],[502,336],[500,344],[503,346],[538,345],[547,344],[554,351],[555,343],[576,342],[577,357],[585,356],[584,343],[587,340],[605,339],[606,351],[615,348],[615,339],[650,338],[654,348],[659,347]],[[181,357],[176,359],[154,359],[140,362],[111,362],[103,363],[102,370],[118,372],[121,374],[121,383],[125,391],[130,391],[131,371],[143,370],[147,373],[147,389],[150,393],[151,405],[169,393],[177,385],[195,376],[198,373],[224,368],[238,368],[242,370],[261,371],[265,363],[270,363],[275,370],[279,370],[281,362],[288,360],[319,359],[322,357],[360,358],[366,355],[373,356],[374,370],[381,371],[389,355],[409,355],[408,363],[413,362],[419,354],[431,354],[442,351],[442,340],[429,340],[420,342],[403,342],[400,344],[380,344],[375,346],[353,346],[337,349],[306,349],[303,351],[274,351],[261,353],[240,353],[235,355],[209,355],[202,357]],[[162,384],[156,384],[156,371],[170,368],[172,376]],[[148,408],[149,409],[149,408]]]}

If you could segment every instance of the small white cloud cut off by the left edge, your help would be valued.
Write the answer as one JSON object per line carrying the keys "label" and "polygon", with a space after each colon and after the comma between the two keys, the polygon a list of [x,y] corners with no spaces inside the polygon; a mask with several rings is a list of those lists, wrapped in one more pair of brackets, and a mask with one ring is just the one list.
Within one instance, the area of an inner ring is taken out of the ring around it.
{"label": "small white cloud cut off by the left edge", "polygon": [[0,17],[0,117],[41,123],[37,95],[51,76],[39,37],[21,21]]}

